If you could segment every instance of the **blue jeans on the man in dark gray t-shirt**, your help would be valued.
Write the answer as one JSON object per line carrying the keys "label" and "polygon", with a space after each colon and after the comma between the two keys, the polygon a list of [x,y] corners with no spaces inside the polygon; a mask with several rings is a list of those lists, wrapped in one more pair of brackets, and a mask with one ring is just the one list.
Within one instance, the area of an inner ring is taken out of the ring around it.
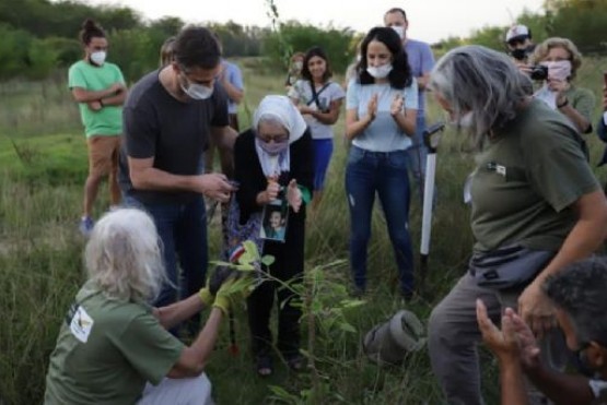
{"label": "blue jeans on the man in dark gray t-shirt", "polygon": [[142,203],[126,196],[125,203],[150,214],[162,241],[166,275],[172,285],[163,286],[153,305],[164,307],[198,293],[205,286],[208,264],[207,213],[202,195],[186,203],[173,204]]}

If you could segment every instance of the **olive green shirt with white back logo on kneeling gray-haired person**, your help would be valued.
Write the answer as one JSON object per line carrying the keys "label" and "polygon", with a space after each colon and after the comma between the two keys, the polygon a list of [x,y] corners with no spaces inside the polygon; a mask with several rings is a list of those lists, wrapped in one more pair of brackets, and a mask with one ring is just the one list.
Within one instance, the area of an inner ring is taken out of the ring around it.
{"label": "olive green shirt with white back logo on kneeling gray-haired person", "polygon": [[109,299],[92,282],[66,317],[46,376],[45,404],[132,405],[157,384],[183,343],[143,302]]}

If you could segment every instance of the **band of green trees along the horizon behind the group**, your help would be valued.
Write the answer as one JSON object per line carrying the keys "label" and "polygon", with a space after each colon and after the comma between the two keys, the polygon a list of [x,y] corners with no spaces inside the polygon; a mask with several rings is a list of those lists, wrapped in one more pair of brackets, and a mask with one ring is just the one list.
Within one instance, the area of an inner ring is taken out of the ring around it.
{"label": "band of green trees along the horizon behind the group", "polygon": [[[361,33],[331,25],[281,22],[272,4],[272,27],[243,26],[230,21],[209,22],[223,50],[231,57],[264,57],[266,65],[283,69],[289,53],[322,45],[336,71],[352,61]],[[100,23],[108,35],[109,59],[135,81],[159,63],[163,41],[185,25],[178,17],[144,20],[127,7],[92,7],[77,1],[0,0],[0,81],[24,76],[44,79],[58,68],[82,58],[78,34],[85,19]],[[607,40],[607,0],[546,0],[540,13],[525,11],[516,19],[528,25],[534,39],[550,36],[572,39],[585,52],[604,52]],[[503,50],[506,26],[486,26],[467,38],[446,38],[433,47],[441,51],[463,44]],[[420,38],[423,39],[423,38]]]}

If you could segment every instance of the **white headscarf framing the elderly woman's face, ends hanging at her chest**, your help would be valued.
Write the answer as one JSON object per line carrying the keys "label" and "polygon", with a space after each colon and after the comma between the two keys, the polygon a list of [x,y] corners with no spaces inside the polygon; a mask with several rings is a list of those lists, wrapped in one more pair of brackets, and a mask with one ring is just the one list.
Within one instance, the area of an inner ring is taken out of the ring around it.
{"label": "white headscarf framing the elderly woman's face, ends hanging at her chest", "polygon": [[[287,96],[269,95],[261,99],[257,110],[253,115],[253,128],[257,132],[259,121],[270,118],[271,120],[280,122],[282,127],[289,132],[289,144],[295,142],[304,134],[307,126],[295,108],[291,99]],[[270,155],[261,148],[259,140],[255,138],[255,150],[261,164],[261,169],[266,177],[278,178],[282,171],[290,170],[290,154],[289,147],[278,155]]]}

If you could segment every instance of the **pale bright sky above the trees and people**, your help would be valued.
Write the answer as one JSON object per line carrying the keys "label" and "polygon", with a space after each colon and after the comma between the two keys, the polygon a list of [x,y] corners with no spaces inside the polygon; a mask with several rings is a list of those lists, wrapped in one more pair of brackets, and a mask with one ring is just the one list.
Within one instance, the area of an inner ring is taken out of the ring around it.
{"label": "pale bright sky above the trees and people", "polygon": [[[269,26],[266,0],[79,0],[91,5],[125,5],[144,19],[177,16],[186,23],[208,21]],[[364,33],[382,24],[393,7],[405,9],[408,36],[435,43],[450,36],[468,36],[483,26],[511,25],[524,9],[541,12],[544,0],[273,0],[281,21],[297,20],[319,26],[351,27]],[[348,4],[347,7],[345,4]]]}

